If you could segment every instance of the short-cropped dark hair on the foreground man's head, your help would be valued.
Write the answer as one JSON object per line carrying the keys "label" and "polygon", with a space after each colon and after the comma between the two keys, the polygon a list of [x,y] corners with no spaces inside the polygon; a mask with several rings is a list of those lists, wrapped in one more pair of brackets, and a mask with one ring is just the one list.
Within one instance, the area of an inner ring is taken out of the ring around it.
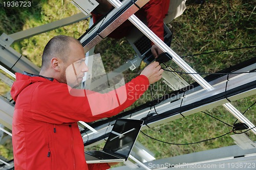
{"label": "short-cropped dark hair on the foreground man's head", "polygon": [[69,54],[68,51],[70,50],[69,44],[71,42],[81,44],[77,39],[66,35],[58,35],[50,39],[45,46],[44,52],[42,52],[41,69],[49,68],[49,61],[51,61],[53,57],[61,58],[63,62],[67,62],[67,55]]}

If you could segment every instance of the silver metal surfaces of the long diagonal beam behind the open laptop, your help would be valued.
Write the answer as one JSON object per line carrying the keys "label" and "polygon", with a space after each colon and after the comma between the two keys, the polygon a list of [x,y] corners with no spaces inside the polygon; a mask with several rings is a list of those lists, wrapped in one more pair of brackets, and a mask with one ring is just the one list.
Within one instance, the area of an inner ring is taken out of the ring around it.
{"label": "silver metal surfaces of the long diagonal beam behind the open laptop", "polygon": [[[256,67],[256,63],[253,63],[245,68],[237,70],[236,72],[244,72],[244,71],[252,70],[255,67]],[[248,74],[229,75],[227,86],[226,86],[226,82],[227,82],[227,75],[222,76],[218,79],[215,79],[215,80],[212,80],[209,82],[209,84],[214,87],[213,90],[209,91],[209,90],[205,90],[201,86],[197,86],[195,88],[192,88],[192,89],[186,91],[185,93],[179,93],[174,96],[170,96],[169,99],[166,99],[155,106],[158,115],[151,117],[152,120],[150,120],[150,121],[147,120],[147,126],[144,125],[142,127],[142,129],[144,130],[144,129],[147,129],[148,127],[155,127],[157,125],[167,123],[167,122],[170,122],[170,121],[178,119],[178,118],[182,118],[183,116],[188,116],[190,114],[198,113],[198,112],[206,110],[206,109],[221,106],[223,104],[228,103],[229,102],[228,100],[237,101],[239,99],[246,98],[247,96],[256,94],[256,83],[255,83],[256,82],[256,73],[255,72],[248,73]],[[198,104],[198,103],[200,103],[200,101],[207,99],[209,96],[215,96],[220,93],[225,93],[226,90],[228,91],[228,90],[236,89],[236,88],[243,86],[244,84],[248,84],[248,83],[252,83],[253,85],[250,88],[244,89],[245,91],[242,93],[233,94],[232,96],[228,96],[228,100],[226,98],[223,98],[222,100],[213,101],[208,104],[201,104],[200,106],[195,107],[190,110],[185,110],[185,111],[178,112],[178,113],[175,112],[175,110],[177,110],[177,108],[187,106],[187,105],[192,105],[192,104],[193,105]],[[182,101],[182,106],[181,106],[181,101]],[[170,113],[165,115],[164,117],[161,116],[161,115],[164,115],[164,113],[166,113],[167,111],[169,111]],[[174,112],[172,113],[172,111],[174,111]],[[145,109],[134,112],[131,115],[129,114],[122,118],[141,119],[151,113],[152,114],[155,113],[154,108],[147,107]],[[181,116],[180,113],[183,116]],[[157,117],[157,116],[159,116],[160,118],[154,119],[154,117]],[[98,131],[98,133],[84,137],[83,138],[84,143],[86,143],[87,141],[93,140],[93,139],[97,139],[98,137],[104,135],[105,133],[109,133],[112,129],[113,124],[114,124],[114,122],[106,123],[106,124],[100,125],[98,127],[94,127]],[[104,140],[98,140],[98,142],[95,142],[95,143],[88,142],[88,144],[86,144],[86,147],[91,147],[92,145],[99,144],[100,142],[104,142]]]}

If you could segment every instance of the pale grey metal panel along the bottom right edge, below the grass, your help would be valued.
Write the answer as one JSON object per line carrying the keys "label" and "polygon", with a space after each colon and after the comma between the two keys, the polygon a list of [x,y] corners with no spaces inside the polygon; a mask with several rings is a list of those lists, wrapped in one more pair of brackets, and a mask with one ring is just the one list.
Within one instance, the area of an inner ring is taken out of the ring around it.
{"label": "pale grey metal panel along the bottom right edge, below the grass", "polygon": [[[253,165],[255,168],[256,149],[242,150],[237,145],[218,148],[209,151],[201,151],[170,158],[158,159],[143,163],[147,168],[152,169],[251,169],[246,165]],[[139,164],[138,164],[139,165]],[[143,167],[137,170],[145,169]],[[203,168],[204,167],[204,168]],[[130,170],[127,166],[111,168],[113,170]]]}

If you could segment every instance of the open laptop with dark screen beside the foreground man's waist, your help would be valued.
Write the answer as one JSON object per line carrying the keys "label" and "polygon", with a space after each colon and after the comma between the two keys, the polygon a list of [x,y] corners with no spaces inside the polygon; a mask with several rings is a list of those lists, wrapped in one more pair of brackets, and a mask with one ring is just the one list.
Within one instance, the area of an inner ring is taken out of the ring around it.
{"label": "open laptop with dark screen beside the foreground man's waist", "polygon": [[87,163],[126,161],[138,137],[143,120],[118,118],[102,151],[86,151]]}

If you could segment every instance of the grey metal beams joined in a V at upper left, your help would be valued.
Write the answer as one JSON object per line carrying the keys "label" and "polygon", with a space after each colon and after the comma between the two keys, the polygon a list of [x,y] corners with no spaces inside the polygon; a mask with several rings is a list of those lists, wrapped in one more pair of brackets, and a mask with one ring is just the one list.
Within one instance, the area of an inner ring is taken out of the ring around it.
{"label": "grey metal beams joined in a V at upper left", "polygon": [[47,23],[46,25],[20,31],[10,35],[3,33],[0,36],[0,63],[5,65],[5,67],[13,73],[27,71],[32,74],[38,74],[40,68],[29,61],[26,57],[13,50],[10,45],[13,42],[20,41],[60,27],[68,26],[80,20],[87,19],[88,17],[90,16],[86,16],[83,13],[78,13],[64,19]]}

